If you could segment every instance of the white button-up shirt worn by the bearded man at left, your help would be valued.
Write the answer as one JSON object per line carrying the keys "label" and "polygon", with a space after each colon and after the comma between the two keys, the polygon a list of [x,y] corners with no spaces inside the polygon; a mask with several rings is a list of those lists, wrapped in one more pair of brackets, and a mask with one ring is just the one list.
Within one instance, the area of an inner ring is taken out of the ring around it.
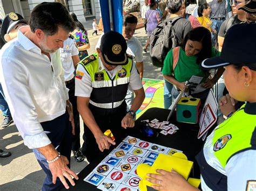
{"label": "white button-up shirt worn by the bearded man at left", "polygon": [[51,143],[40,123],[63,115],[69,95],[59,51],[50,54],[50,61],[24,36],[24,27],[2,48],[0,79],[24,144],[38,148]]}

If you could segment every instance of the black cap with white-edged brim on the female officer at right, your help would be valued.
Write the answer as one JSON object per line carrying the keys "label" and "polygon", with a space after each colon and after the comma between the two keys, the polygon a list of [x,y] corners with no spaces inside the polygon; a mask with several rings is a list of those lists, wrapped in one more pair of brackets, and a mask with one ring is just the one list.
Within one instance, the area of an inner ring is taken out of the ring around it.
{"label": "black cap with white-edged brim on the female officer at right", "polygon": [[203,69],[227,65],[248,66],[256,70],[256,24],[233,25],[226,33],[220,56],[205,59]]}

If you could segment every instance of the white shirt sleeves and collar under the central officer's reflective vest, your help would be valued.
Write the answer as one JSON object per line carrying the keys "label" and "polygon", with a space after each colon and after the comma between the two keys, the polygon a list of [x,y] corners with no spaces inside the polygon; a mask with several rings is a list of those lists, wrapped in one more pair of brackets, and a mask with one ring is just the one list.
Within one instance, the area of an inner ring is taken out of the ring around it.
{"label": "white shirt sleeves and collar under the central officer's reflective vest", "polygon": [[[105,69],[111,78],[113,78],[119,72],[119,70],[123,68],[122,66],[117,66],[113,70],[109,71],[105,68],[100,58],[98,59],[98,62],[99,62],[99,72]],[[92,92],[91,76],[86,72],[84,67],[80,64],[77,67],[77,71],[82,72],[84,75],[82,79],[78,79],[77,77],[75,78],[75,81],[76,81],[75,96],[90,97]],[[142,80],[140,79],[134,64],[132,65],[129,85],[133,90],[137,90],[143,87]]]}

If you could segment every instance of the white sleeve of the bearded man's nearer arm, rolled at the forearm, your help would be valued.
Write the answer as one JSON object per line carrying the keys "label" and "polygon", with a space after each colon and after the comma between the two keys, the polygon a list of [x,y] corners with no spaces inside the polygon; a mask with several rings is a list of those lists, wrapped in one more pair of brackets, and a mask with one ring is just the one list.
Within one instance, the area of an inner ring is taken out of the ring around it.
{"label": "white sleeve of the bearded man's nearer arm, rolled at the forearm", "polygon": [[18,131],[29,148],[39,148],[51,143],[38,121],[33,96],[28,87],[28,72],[9,57],[1,59],[1,82],[6,101]]}

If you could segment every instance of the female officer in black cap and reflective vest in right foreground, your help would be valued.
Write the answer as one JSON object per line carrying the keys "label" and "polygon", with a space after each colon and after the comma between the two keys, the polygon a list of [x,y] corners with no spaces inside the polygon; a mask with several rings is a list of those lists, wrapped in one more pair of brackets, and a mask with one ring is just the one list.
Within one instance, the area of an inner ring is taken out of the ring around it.
{"label": "female officer in black cap and reflective vest in right foreground", "polygon": [[[246,34],[244,36],[243,34]],[[221,55],[206,59],[206,69],[225,68],[230,95],[246,104],[207,137],[196,159],[203,190],[251,190],[256,185],[256,24],[234,25],[228,30]],[[237,48],[240,47],[240,48]],[[241,50],[246,48],[245,51]],[[157,169],[148,174],[154,189],[197,190],[176,171]],[[157,185],[157,186],[156,186]]]}

